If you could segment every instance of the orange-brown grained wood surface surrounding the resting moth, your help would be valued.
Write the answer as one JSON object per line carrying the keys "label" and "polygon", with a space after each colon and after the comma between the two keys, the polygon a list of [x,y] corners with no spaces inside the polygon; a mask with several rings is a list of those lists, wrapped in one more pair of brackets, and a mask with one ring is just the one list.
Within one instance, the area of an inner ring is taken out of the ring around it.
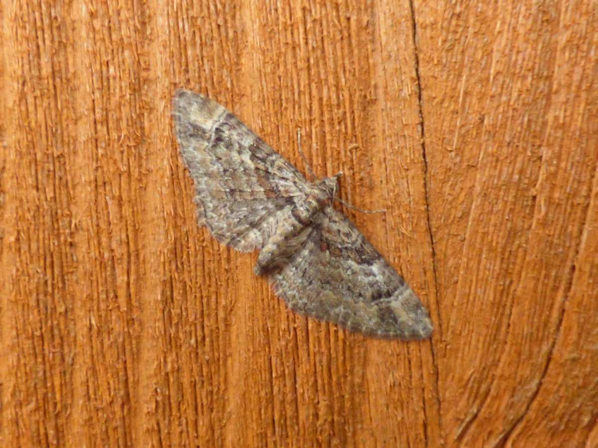
{"label": "orange-brown grained wood surface surrounding the resting moth", "polygon": [[[598,446],[595,2],[0,17],[2,446]],[[432,339],[289,312],[198,228],[176,87],[386,208],[342,207]]]}

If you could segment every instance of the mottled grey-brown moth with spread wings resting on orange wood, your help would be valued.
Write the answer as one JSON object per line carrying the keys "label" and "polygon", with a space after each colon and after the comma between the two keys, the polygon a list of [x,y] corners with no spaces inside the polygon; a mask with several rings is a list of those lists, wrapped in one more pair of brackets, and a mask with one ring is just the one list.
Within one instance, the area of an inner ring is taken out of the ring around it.
{"label": "mottled grey-brown moth with spread wings resting on orange wood", "polygon": [[200,94],[177,90],[172,115],[199,225],[236,250],[260,250],[255,274],[290,309],[366,335],[431,335],[428,311],[413,290],[333,208],[340,174],[308,182],[233,113]]}

